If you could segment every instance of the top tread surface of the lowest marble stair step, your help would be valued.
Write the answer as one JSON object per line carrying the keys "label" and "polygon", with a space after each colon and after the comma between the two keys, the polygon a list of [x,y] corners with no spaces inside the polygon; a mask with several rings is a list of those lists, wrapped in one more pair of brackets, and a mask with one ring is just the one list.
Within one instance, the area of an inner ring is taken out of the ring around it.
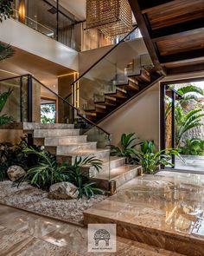
{"label": "top tread surface of the lowest marble stair step", "polygon": [[122,167],[117,167],[114,169],[111,169],[109,171],[105,171],[103,173],[96,174],[96,176],[92,177],[92,179],[101,179],[101,180],[107,180],[107,181],[112,181],[118,176],[121,176],[125,173],[128,173],[134,169],[136,169],[139,166],[133,166],[133,165],[124,165]]}

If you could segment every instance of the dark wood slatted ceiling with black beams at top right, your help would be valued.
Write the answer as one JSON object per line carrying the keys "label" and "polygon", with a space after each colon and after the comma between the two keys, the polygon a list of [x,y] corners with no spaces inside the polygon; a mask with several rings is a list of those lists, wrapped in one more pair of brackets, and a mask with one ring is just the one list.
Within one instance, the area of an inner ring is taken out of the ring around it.
{"label": "dark wood slatted ceiling with black beams at top right", "polygon": [[204,70],[204,0],[129,3],[159,72]]}

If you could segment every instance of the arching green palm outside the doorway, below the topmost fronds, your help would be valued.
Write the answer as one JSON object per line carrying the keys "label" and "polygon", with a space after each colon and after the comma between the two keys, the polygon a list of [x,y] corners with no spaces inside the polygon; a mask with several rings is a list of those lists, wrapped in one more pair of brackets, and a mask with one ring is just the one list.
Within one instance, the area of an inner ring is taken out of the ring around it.
{"label": "arching green palm outside the doorway, below the topmost fronds", "polygon": [[201,117],[203,117],[203,111],[201,108],[193,109],[184,112],[182,108],[175,108],[175,145],[176,148],[180,147],[182,137],[188,130],[203,126]]}

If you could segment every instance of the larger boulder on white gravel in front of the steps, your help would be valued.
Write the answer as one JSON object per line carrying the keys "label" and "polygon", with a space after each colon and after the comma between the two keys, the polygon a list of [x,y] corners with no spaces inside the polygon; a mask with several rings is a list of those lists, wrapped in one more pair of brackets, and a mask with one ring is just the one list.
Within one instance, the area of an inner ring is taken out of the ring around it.
{"label": "larger boulder on white gravel in front of the steps", "polygon": [[49,199],[76,199],[79,195],[77,187],[70,182],[59,182],[49,187]]}

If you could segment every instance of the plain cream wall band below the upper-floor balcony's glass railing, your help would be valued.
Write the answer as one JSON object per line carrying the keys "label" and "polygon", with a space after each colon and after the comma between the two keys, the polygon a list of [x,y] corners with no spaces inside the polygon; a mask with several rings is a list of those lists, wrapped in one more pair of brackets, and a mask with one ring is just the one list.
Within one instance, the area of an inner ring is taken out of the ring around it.
{"label": "plain cream wall band below the upper-floor balcony's glass railing", "polygon": [[79,53],[13,19],[0,23],[0,40],[36,56],[79,70]]}

